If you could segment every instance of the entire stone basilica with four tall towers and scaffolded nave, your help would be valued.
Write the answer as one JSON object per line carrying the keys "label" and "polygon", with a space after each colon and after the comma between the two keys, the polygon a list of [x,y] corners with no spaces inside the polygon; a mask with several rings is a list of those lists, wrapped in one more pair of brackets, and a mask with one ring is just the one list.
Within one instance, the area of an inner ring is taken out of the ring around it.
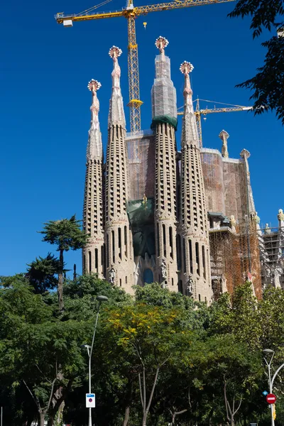
{"label": "entire stone basilica with four tall towers and scaffolded nave", "polygon": [[170,76],[168,40],[155,45],[150,131],[126,133],[119,56],[112,47],[107,160],[99,127],[100,83],[91,80],[91,126],[84,186],[84,273],[96,273],[133,293],[133,285],[158,282],[195,300],[211,302],[251,281],[257,297],[267,285],[284,285],[284,214],[278,227],[261,229],[249,173],[250,153],[229,158],[202,148],[192,103],[190,62],[182,62],[184,108],[181,150],[175,132],[177,100]]}

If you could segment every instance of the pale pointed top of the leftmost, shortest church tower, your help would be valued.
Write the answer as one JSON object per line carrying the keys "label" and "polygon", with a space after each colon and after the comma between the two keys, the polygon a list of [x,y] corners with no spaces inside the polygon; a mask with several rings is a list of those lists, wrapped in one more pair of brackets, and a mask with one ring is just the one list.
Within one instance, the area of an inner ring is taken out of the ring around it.
{"label": "pale pointed top of the leftmost, shortest church tower", "polygon": [[94,158],[102,159],[102,135],[99,129],[99,99],[97,98],[97,90],[102,86],[97,80],[90,80],[88,89],[92,92],[91,110],[91,126],[89,128],[89,137],[87,144],[87,160]]}

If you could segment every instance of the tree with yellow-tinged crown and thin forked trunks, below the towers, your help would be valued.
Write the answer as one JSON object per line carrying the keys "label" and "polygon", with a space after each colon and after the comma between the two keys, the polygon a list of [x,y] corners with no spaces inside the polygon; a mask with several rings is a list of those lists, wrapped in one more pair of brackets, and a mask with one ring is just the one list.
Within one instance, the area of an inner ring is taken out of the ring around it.
{"label": "tree with yellow-tinged crown and thin forked trunks, below the towers", "polygon": [[127,359],[129,375],[138,378],[142,426],[146,426],[160,371],[181,351],[181,342],[191,333],[180,328],[178,310],[143,304],[112,309],[107,333],[114,333],[121,356]]}

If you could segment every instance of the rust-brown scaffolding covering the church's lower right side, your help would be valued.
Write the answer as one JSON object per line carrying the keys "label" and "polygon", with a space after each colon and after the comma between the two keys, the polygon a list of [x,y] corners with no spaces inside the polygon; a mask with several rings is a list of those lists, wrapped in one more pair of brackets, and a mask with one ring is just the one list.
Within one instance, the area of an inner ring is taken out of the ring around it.
{"label": "rust-brown scaffolding covering the church's lower right side", "polygon": [[258,299],[272,285],[284,289],[284,229],[261,229],[253,220],[209,230],[214,297],[250,280]]}

